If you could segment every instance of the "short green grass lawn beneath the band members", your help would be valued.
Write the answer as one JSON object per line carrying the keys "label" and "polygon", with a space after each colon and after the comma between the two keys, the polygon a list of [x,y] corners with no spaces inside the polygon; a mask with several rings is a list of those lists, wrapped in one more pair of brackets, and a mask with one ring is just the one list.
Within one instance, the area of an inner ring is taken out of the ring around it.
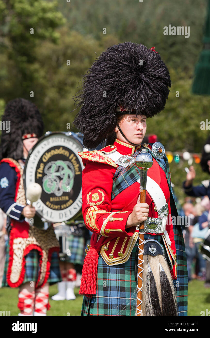
{"label": "short green grass lawn beneath the band members", "polygon": [[[75,300],[50,300],[51,309],[48,316],[80,316],[83,296],[74,289]],[[50,297],[57,293],[57,285],[50,286]],[[10,311],[11,316],[17,316],[19,309],[18,289],[0,289],[0,311]],[[193,280],[188,285],[188,316],[201,316],[201,311],[210,311],[210,289],[204,288],[204,282]]]}

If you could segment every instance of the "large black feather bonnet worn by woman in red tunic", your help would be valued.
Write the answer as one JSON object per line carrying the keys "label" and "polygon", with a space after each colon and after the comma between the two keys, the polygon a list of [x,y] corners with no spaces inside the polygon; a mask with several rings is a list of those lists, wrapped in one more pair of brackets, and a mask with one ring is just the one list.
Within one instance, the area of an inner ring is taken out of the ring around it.
{"label": "large black feather bonnet worn by woman in red tunic", "polygon": [[84,146],[93,148],[113,133],[118,106],[147,117],[161,112],[171,79],[154,47],[124,42],[100,54],[84,75],[82,86],[74,97],[80,107],[74,125],[84,135]]}

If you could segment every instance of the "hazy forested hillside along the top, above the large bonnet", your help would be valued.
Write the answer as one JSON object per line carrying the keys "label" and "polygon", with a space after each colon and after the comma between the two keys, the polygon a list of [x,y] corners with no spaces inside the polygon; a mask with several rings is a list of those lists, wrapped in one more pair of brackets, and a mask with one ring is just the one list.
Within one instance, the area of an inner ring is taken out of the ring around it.
{"label": "hazy forested hillside along the top, above the large bonnet", "polygon": [[[59,8],[70,29],[102,41],[106,37],[103,28],[106,28],[107,34],[116,36],[118,42],[155,46],[167,65],[192,75],[202,48],[206,4],[206,0],[77,0],[61,1]],[[169,24],[189,26],[189,38],[163,35],[163,27]]]}

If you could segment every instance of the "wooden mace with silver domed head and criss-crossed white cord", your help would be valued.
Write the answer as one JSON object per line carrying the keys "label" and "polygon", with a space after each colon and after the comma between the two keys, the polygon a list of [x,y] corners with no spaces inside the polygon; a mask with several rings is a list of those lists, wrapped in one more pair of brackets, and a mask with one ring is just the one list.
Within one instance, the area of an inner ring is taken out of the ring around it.
{"label": "wooden mace with silver domed head and criss-crossed white cord", "polygon": [[[140,168],[140,203],[145,203],[146,201],[146,185],[147,185],[147,170],[151,168],[153,163],[152,155],[147,152],[147,149],[142,149],[142,151],[137,155],[135,164]],[[139,231],[139,253],[138,253],[138,274],[137,274],[137,308],[136,316],[142,315],[142,281],[143,281],[143,253],[144,253],[144,221],[137,225],[137,231]]]}

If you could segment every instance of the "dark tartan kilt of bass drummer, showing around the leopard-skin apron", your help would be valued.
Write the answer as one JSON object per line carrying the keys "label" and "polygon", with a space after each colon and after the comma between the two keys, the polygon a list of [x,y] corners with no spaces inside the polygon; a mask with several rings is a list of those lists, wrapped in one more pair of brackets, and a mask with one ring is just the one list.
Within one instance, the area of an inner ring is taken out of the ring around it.
{"label": "dark tartan kilt of bass drummer, showing around the leopard-skin apron", "polygon": [[[36,249],[31,250],[25,256],[25,277],[23,284],[26,282],[37,281],[37,276],[39,273],[39,252]],[[2,287],[9,285],[7,284],[6,275],[7,275],[7,268],[9,262],[9,244],[6,246],[6,257],[5,257],[5,264],[4,264],[4,275],[2,280]],[[62,282],[60,268],[59,268],[59,257],[57,252],[53,252],[51,257],[51,266],[50,266],[50,275],[47,280],[50,285],[53,285],[58,282]]]}

